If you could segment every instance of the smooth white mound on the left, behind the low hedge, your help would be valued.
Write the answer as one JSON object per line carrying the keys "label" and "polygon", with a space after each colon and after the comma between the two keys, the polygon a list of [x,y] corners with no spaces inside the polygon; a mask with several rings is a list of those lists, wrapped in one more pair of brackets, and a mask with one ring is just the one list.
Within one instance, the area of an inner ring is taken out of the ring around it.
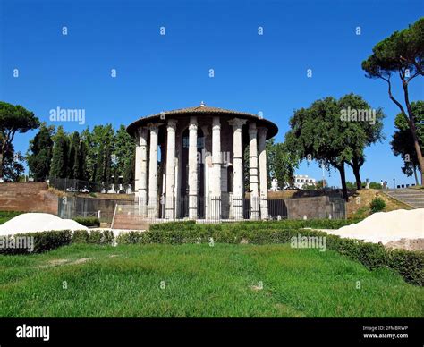
{"label": "smooth white mound on the left, behind the low hedge", "polygon": [[47,213],[24,213],[0,225],[0,235],[37,233],[51,230],[89,230],[72,219],[62,219]]}

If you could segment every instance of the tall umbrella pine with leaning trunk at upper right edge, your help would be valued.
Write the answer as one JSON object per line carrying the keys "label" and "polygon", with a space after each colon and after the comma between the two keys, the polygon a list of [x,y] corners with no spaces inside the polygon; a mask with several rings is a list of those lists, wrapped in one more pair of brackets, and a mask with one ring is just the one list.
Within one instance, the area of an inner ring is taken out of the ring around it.
{"label": "tall umbrella pine with leaning trunk at upper right edge", "polygon": [[[417,133],[417,124],[411,107],[409,85],[411,80],[424,75],[424,18],[410,28],[394,31],[389,37],[377,43],[372,55],[362,62],[362,69],[371,79],[385,80],[388,96],[403,114],[411,131],[414,150],[420,166],[421,184],[424,184],[424,158],[422,144]],[[392,76],[399,76],[403,88],[403,104],[392,92]],[[405,109],[406,108],[406,109]]]}

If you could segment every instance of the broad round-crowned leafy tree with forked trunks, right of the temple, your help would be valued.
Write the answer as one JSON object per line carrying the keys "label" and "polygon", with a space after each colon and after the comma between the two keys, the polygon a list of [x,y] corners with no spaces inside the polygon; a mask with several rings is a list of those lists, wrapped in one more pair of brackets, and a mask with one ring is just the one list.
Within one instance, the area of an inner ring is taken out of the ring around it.
{"label": "broad round-crowned leafy tree with forked trunks, right of the temple", "polygon": [[[327,170],[332,166],[339,171],[343,199],[346,201],[345,165],[355,168],[357,186],[360,187],[359,170],[364,162],[364,148],[382,136],[383,114],[381,110],[376,110],[374,119],[372,112],[368,115],[362,112],[369,112],[369,108],[360,96],[354,94],[339,100],[326,97],[315,101],[309,108],[295,111],[290,120],[291,130],[285,136],[287,148],[292,148],[294,157],[316,160]],[[362,118],[346,117],[353,109],[356,114],[360,111]]]}

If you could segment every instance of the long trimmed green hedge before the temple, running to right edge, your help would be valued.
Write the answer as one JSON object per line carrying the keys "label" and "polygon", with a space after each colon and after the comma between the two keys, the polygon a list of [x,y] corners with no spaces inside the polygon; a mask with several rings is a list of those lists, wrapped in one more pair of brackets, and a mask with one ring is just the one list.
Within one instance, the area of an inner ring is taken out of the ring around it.
{"label": "long trimmed green hedge before the temple, running to right edge", "polygon": [[[191,224],[188,224],[191,225]],[[336,235],[318,232],[314,230],[299,229],[256,229],[250,228],[214,228],[201,225],[197,229],[182,230],[155,230],[148,232],[121,233],[116,241],[124,244],[182,244],[182,243],[206,243],[212,238],[218,243],[252,243],[272,244],[290,243],[292,237],[301,236],[325,236],[326,249],[335,250],[338,253],[360,261],[369,270],[380,267],[394,269],[403,276],[405,281],[423,286],[424,285],[424,252],[409,250],[386,250],[381,243],[369,243],[354,239],[342,239]],[[218,225],[215,225],[218,226]]]}

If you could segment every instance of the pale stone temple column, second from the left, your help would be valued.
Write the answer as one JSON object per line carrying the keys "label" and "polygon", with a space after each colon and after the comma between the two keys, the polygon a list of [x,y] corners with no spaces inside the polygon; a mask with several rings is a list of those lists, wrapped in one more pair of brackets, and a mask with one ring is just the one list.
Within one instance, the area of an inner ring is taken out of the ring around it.
{"label": "pale stone temple column, second from the left", "polygon": [[148,217],[157,218],[157,136],[159,123],[149,123],[150,156],[148,159]]}

